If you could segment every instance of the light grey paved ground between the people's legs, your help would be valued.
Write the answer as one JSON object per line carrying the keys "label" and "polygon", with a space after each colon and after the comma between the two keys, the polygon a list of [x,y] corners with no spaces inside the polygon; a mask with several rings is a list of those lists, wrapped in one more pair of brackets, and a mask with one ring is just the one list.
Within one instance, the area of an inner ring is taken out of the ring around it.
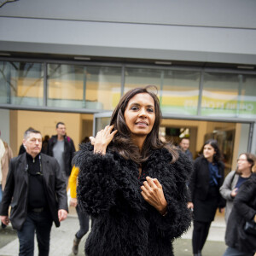
{"label": "light grey paved ground between the people's legs", "polygon": [[[73,209],[67,219],[61,223],[61,227],[56,229],[53,226],[50,239],[49,256],[72,256],[73,236],[79,229],[79,220]],[[224,245],[224,217],[217,216],[216,221],[212,222],[212,227],[207,239],[207,243],[202,251],[203,256],[222,256],[226,246]],[[191,256],[191,231],[189,230],[182,238],[174,242],[174,252],[176,256]],[[88,234],[87,234],[88,235]],[[84,236],[79,246],[79,256],[84,255],[84,242],[87,236]],[[0,228],[0,256],[18,255],[19,241],[15,230],[8,226],[6,229]],[[35,248],[35,255],[38,255],[38,249]],[[99,255],[100,256],[100,255]],[[113,255],[119,256],[119,255]],[[132,256],[132,255],[131,255]]]}

